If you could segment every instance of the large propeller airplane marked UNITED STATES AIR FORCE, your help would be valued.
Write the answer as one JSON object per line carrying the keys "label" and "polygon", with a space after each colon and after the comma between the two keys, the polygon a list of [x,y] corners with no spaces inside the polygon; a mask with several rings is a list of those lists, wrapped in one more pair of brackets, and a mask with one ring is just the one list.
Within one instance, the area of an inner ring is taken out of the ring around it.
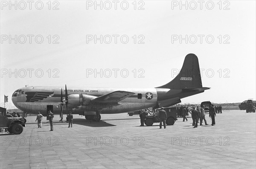
{"label": "large propeller airplane marked UNITED STATES AIR FORCE", "polygon": [[[180,99],[203,93],[198,57],[188,54],[180,73],[169,83],[154,88],[68,87],[65,96],[62,87],[22,87],[12,95],[15,106],[26,113],[47,116],[72,111],[87,120],[99,121],[100,114],[127,113],[149,107],[169,107]],[[64,98],[64,99],[63,99]]]}

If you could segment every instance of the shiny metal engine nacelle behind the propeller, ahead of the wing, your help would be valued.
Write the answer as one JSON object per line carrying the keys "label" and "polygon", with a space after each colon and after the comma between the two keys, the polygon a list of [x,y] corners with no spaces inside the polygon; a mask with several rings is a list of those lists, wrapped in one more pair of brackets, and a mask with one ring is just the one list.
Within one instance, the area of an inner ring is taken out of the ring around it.
{"label": "shiny metal engine nacelle behind the propeller, ahead of the wing", "polygon": [[71,94],[68,97],[68,107],[77,107],[86,105],[91,99],[95,99],[96,96],[86,95],[86,94]]}

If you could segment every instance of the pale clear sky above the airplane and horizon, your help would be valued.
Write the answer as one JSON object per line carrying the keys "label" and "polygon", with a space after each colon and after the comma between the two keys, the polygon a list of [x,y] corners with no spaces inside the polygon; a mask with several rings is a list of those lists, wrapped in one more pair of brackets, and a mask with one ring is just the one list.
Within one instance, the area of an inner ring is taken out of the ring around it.
{"label": "pale clear sky above the airplane and horizon", "polygon": [[190,53],[211,89],[183,104],[255,100],[255,22],[252,0],[1,1],[0,103],[25,85],[158,87]]}

